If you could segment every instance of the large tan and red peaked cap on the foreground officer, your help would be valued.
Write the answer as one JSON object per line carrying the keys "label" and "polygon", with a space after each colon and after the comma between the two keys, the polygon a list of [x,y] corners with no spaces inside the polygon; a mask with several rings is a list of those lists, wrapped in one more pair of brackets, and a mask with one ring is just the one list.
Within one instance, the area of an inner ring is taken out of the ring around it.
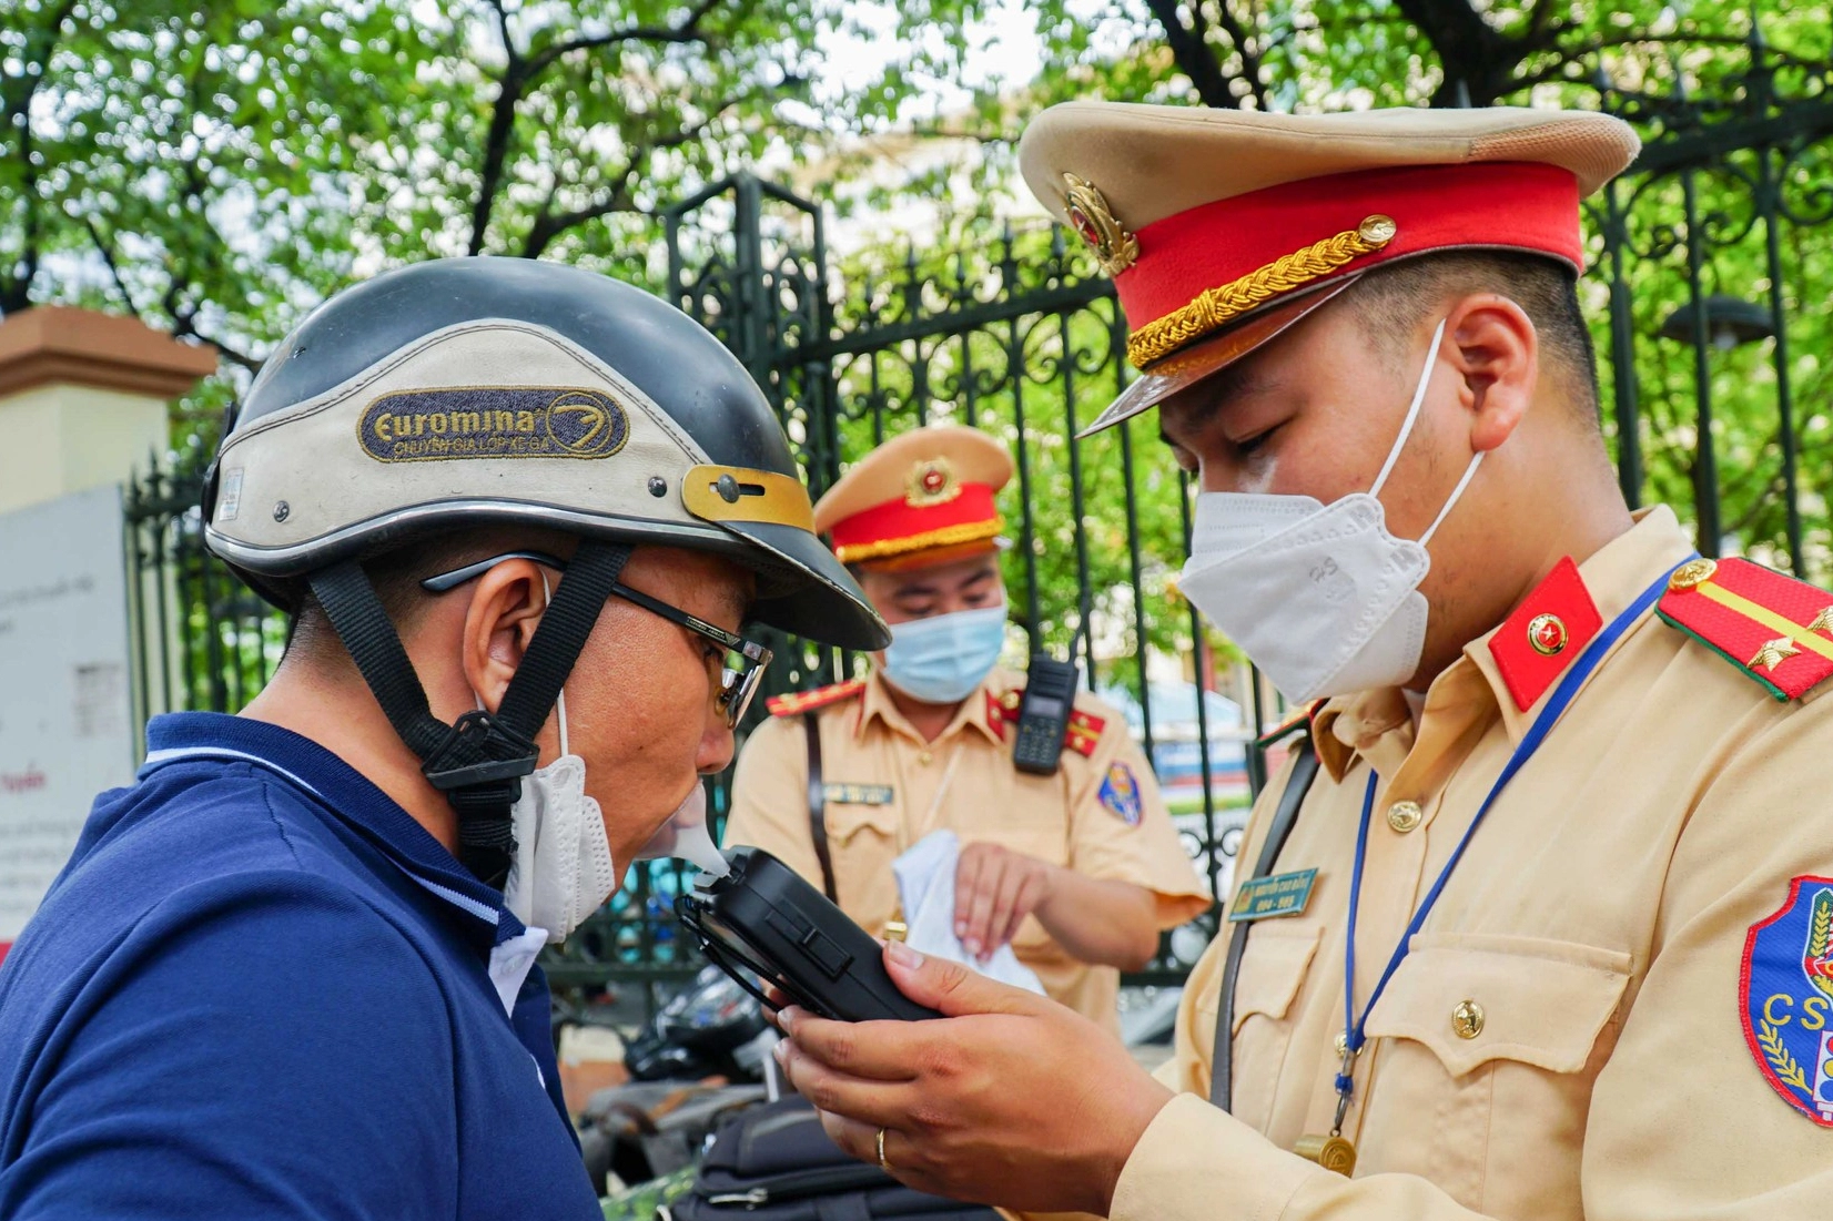
{"label": "large tan and red peaked cap on the foreground officer", "polygon": [[1241,359],[1369,268],[1501,249],[1582,270],[1578,202],[1639,147],[1620,119],[1576,110],[1050,106],[1019,143],[1025,182],[1114,277],[1142,372],[1083,434]]}

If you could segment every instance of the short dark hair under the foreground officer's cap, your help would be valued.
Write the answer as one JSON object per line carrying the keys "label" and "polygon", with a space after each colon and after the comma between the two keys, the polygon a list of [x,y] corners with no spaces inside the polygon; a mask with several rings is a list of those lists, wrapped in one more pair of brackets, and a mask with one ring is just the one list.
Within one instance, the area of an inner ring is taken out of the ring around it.
{"label": "short dark hair under the foreground officer's cap", "polygon": [[1421,255],[1375,268],[1344,295],[1384,356],[1446,299],[1496,293],[1514,301],[1540,336],[1543,374],[1558,380],[1575,414],[1598,424],[1597,352],[1578,306],[1578,277],[1562,262],[1516,251]]}

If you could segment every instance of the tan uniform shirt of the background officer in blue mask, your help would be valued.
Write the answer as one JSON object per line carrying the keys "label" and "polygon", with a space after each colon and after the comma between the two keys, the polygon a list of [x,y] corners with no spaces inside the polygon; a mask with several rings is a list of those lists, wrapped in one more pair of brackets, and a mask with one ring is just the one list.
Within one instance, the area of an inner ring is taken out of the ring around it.
{"label": "tan uniform shirt of the background officer in blue mask", "polygon": [[[1142,886],[1158,896],[1162,928],[1208,908],[1208,889],[1179,843],[1151,768],[1113,708],[1076,697],[1078,711],[1102,720],[1100,735],[1092,754],[1065,748],[1056,776],[1012,766],[1012,730],[990,715],[986,693],[997,698],[1023,686],[1023,675],[993,671],[933,742],[911,728],[876,675],[860,695],[814,713],[823,781],[854,788],[830,788],[825,801],[834,886],[841,909],[869,933],[880,935],[898,908],[891,862],[944,827],[964,843],[990,840],[1091,878]],[[752,733],[739,755],[724,840],[761,847],[819,882],[803,722],[803,715],[772,717]],[[1136,805],[1125,801],[1127,783],[1136,785]],[[1012,948],[1054,999],[1118,1030],[1114,968],[1070,959],[1036,918],[1019,926]]]}

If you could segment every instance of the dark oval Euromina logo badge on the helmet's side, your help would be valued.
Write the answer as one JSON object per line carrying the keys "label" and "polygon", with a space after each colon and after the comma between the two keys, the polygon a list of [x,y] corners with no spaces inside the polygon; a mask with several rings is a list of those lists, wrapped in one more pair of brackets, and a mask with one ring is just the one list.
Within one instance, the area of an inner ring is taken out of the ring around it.
{"label": "dark oval Euromina logo badge on the helmet's side", "polygon": [[631,420],[603,390],[482,385],[383,394],[356,436],[378,462],[609,458]]}

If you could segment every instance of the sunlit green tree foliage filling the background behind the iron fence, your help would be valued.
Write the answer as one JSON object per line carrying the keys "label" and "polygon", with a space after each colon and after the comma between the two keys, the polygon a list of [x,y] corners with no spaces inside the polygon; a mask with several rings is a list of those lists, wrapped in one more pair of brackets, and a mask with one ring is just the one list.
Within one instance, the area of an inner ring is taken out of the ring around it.
{"label": "sunlit green tree foliage filling the background behind the iron fence", "polygon": [[[970,77],[993,0],[0,6],[0,310],[81,301],[216,343],[231,376],[178,420],[180,436],[205,444],[244,370],[352,277],[495,253],[660,286],[658,213],[752,165],[819,160],[830,185],[858,180],[830,191],[838,211],[929,196],[940,222],[920,253],[843,260],[830,315],[794,324],[794,343],[832,348],[825,370],[753,367],[796,411],[819,411],[812,381],[832,380],[840,451],[812,451],[818,482],[836,458],[918,420],[973,420],[1023,449],[1026,480],[1008,493],[1015,537],[1030,543],[1012,557],[1015,601],[1036,601],[1061,647],[1087,578],[1103,654],[1136,654],[1142,636],[1190,645],[1186,609],[1162,596],[1182,556],[1184,480],[1144,427],[1127,440],[1067,438],[1069,422],[1092,418],[1120,385],[1120,321],[1102,292],[1074,292],[1091,275],[1078,249],[1048,231],[1006,240],[992,220],[1012,191],[1023,119],[1083,95],[1615,108],[1657,148],[1697,154],[1650,161],[1622,183],[1622,240],[1604,242],[1619,224],[1606,202],[1591,214],[1604,411],[1613,442],[1617,412],[1635,411],[1635,491],[1697,517],[1712,480],[1730,546],[1833,576],[1828,0],[1765,15],[1767,42],[1752,38],[1747,9],[1655,0],[1026,0],[1019,24],[1036,31],[1041,72],[1001,77],[995,64],[955,90],[959,106],[935,97]],[[825,51],[847,33],[874,37],[880,62],[852,92],[832,86],[847,64]],[[1734,150],[1708,156],[1712,132],[1729,132]],[[862,134],[874,139],[851,139]],[[966,138],[975,156],[915,176],[869,172],[887,139],[933,138]],[[1692,249],[1690,233],[1701,236]],[[730,271],[730,246],[724,262]],[[1699,444],[1696,348],[1659,337],[1696,279],[1701,293],[1765,306],[1776,295],[1787,319],[1780,343],[1703,361],[1716,471]],[[700,304],[720,295],[704,288]],[[975,314],[1014,292],[1034,304]],[[1802,548],[1782,495],[1784,383]]]}

